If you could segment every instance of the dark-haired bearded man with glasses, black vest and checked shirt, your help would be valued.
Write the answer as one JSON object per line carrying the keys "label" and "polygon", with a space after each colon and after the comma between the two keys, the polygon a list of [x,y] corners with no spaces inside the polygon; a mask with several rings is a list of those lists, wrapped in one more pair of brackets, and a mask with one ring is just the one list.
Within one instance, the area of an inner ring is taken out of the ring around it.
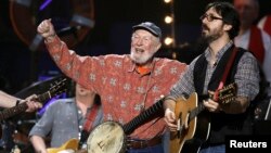
{"label": "dark-haired bearded man with glasses, black vest and checked shirt", "polygon": [[[175,114],[175,109],[180,103],[178,101],[180,97],[188,98],[196,92],[201,98],[198,106],[203,106],[203,111],[198,114],[199,126],[196,132],[205,132],[202,136],[206,135],[207,139],[194,137],[190,141],[194,148],[184,145],[182,149],[183,151],[184,149],[185,151],[201,150],[201,153],[223,153],[225,152],[225,136],[251,133],[250,123],[247,122],[248,107],[249,102],[259,92],[259,69],[257,60],[250,52],[234,47],[233,39],[238,34],[240,21],[232,4],[209,3],[201,20],[202,37],[208,47],[189,65],[188,71],[170,90],[164,102],[165,122],[171,131],[178,129],[179,133],[183,133],[180,129],[190,128],[188,122],[193,119],[189,118],[190,114],[188,120],[181,120],[182,124],[177,125],[178,114]],[[229,64],[231,59],[232,62]],[[229,74],[224,73],[227,71]],[[232,82],[237,86],[236,95],[228,103],[222,103],[216,94],[222,91],[222,87]],[[199,120],[202,115],[207,116],[202,119],[209,119],[210,126],[207,124],[206,127],[201,127],[204,126]]]}

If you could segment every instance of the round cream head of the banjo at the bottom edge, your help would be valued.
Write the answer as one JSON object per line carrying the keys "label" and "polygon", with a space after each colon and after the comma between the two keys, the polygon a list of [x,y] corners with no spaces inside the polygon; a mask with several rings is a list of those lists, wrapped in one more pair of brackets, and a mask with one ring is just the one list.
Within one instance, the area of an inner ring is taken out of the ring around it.
{"label": "round cream head of the banjo at the bottom edge", "polygon": [[88,153],[124,153],[126,135],[115,122],[105,122],[96,126],[87,140]]}

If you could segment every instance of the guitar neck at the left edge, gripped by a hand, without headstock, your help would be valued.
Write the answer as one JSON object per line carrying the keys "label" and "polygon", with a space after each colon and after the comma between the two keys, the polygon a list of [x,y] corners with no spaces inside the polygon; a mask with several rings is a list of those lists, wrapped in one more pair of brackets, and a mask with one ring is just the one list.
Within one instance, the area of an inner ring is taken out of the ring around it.
{"label": "guitar neck at the left edge, gripped by a hand, without headstock", "polygon": [[[37,98],[37,101],[43,103],[49,99],[51,99],[51,93],[48,91],[48,92],[44,92],[42,94],[39,94],[38,98]],[[27,109],[28,109],[28,106],[27,106],[27,104],[25,102],[16,105],[16,106],[5,109],[2,112],[0,112],[0,120],[3,120],[3,119],[9,118],[11,116],[17,115],[20,113],[23,113]]]}

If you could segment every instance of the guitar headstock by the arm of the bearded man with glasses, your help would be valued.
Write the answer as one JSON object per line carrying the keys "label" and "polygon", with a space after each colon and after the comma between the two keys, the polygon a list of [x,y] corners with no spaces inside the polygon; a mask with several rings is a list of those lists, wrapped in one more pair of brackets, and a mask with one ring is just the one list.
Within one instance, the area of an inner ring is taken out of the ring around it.
{"label": "guitar headstock by the arm of the bearded man with glasses", "polygon": [[[232,82],[220,89],[218,92],[218,102],[221,104],[228,104],[229,102],[235,100],[236,88],[237,88],[236,84]],[[214,95],[210,95],[210,98],[212,97]]]}

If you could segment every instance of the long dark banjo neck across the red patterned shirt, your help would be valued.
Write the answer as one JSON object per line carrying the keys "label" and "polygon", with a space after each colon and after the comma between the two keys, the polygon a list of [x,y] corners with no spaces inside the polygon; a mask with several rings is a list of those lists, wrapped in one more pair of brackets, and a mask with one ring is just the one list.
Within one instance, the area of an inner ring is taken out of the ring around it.
{"label": "long dark banjo neck across the red patterned shirt", "polygon": [[124,125],[124,131],[126,135],[130,135],[134,129],[137,129],[141,124],[146,122],[151,116],[157,114],[158,111],[163,110],[164,98],[158,102],[153,104],[151,107],[142,112],[140,115],[134,117],[132,120]]}

